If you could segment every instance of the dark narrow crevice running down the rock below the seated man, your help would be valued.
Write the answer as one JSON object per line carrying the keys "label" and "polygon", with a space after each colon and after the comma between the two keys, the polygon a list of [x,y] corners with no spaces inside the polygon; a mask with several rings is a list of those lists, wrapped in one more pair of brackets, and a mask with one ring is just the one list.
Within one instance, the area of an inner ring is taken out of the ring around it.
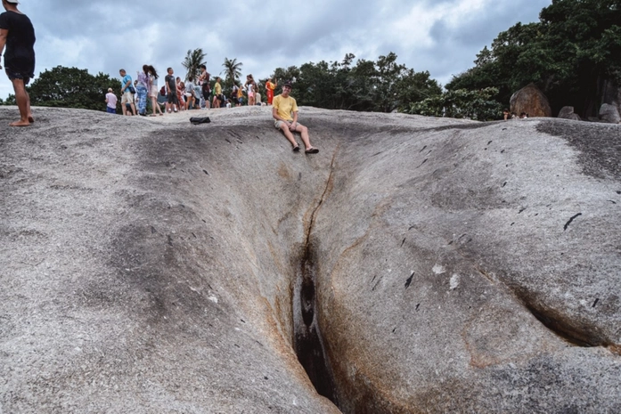
{"label": "dark narrow crevice running down the rock below the seated man", "polygon": [[339,407],[334,376],[328,355],[325,352],[323,337],[319,327],[315,274],[316,255],[311,241],[315,214],[319,207],[321,207],[323,199],[331,190],[332,171],[337,151],[332,156],[328,182],[319,202],[311,213],[308,228],[306,229],[306,240],[296,272],[291,307],[293,310],[293,346],[298,356],[298,361],[306,370],[306,374],[313,386],[315,386],[317,393],[328,398]]}

